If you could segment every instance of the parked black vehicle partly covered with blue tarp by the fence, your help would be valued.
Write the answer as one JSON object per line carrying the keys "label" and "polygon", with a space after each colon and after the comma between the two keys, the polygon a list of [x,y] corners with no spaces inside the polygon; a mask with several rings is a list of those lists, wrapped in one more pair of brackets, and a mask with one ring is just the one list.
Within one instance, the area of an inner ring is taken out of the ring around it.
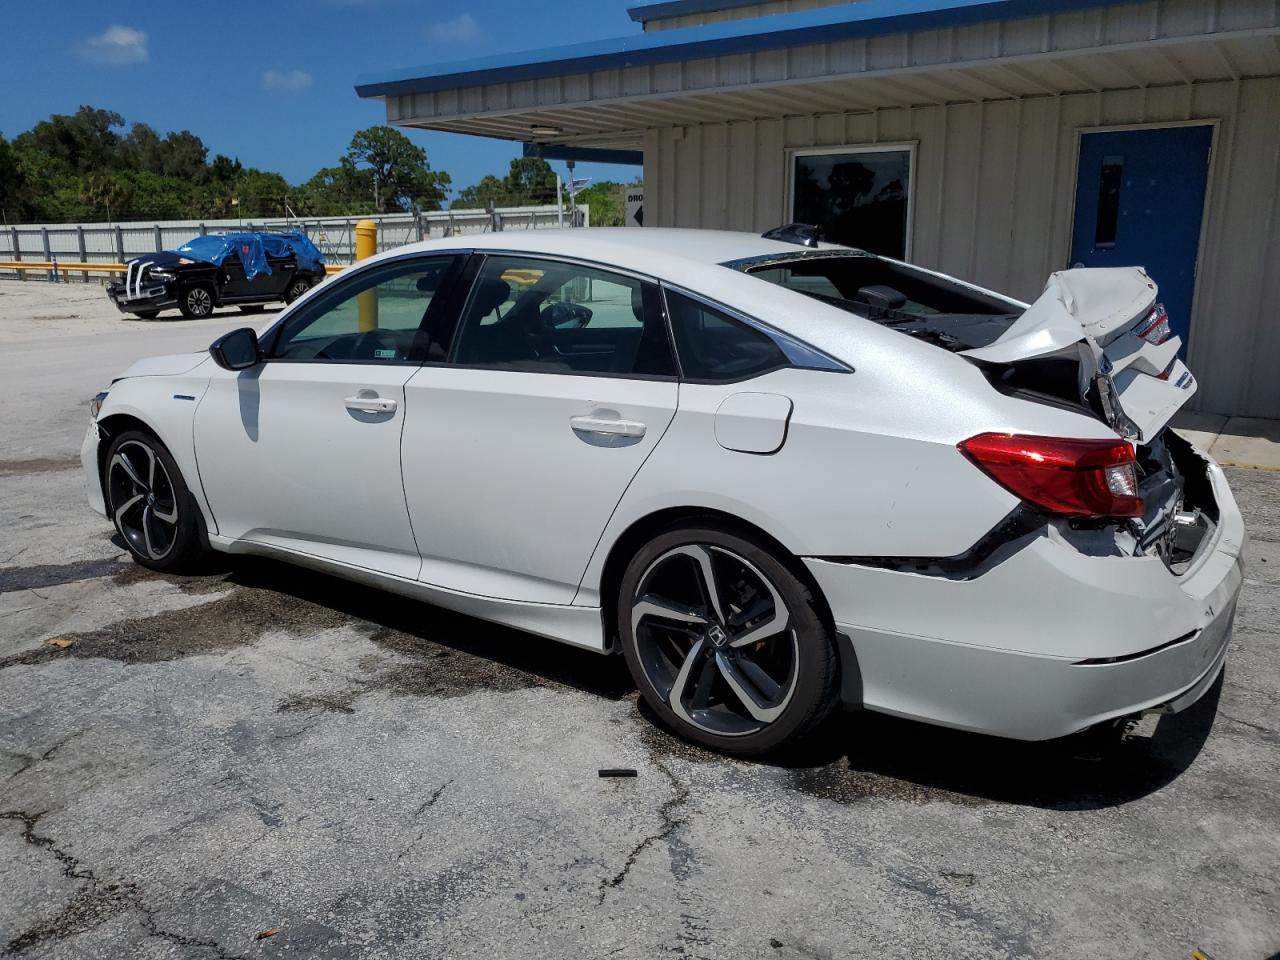
{"label": "parked black vehicle partly covered with blue tarp by the fence", "polygon": [[325,276],[324,257],[305,233],[211,233],[127,266],[106,294],[122,314],[143,320],[172,308],[201,317],[221,306],[253,312],[292,303]]}

